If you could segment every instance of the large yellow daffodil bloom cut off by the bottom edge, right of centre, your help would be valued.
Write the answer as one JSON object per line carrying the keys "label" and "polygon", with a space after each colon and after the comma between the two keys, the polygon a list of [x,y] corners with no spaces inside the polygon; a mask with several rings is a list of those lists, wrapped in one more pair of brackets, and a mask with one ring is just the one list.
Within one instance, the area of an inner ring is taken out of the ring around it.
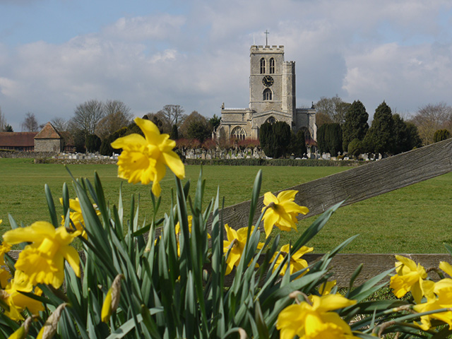
{"label": "large yellow daffodil bloom cut off by the bottom edge, right of centre", "polygon": [[276,328],[281,339],[292,339],[298,335],[302,339],[314,338],[357,338],[350,326],[332,312],[356,303],[342,295],[311,295],[309,302],[293,304],[280,312]]}

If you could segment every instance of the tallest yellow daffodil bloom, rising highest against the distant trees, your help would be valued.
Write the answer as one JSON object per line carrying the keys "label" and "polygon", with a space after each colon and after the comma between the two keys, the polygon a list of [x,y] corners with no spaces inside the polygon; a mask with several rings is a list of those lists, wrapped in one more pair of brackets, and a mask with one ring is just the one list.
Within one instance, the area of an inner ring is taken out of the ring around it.
{"label": "tallest yellow daffodil bloom, rising highest against the distant trees", "polygon": [[173,151],[176,142],[170,140],[168,134],[160,134],[152,121],[140,118],[135,118],[134,121],[145,137],[133,133],[112,143],[113,148],[122,148],[122,153],[118,157],[118,177],[127,179],[133,184],[153,182],[153,194],[160,196],[160,180],[165,177],[165,166],[169,167],[179,179],[184,179],[184,164]]}

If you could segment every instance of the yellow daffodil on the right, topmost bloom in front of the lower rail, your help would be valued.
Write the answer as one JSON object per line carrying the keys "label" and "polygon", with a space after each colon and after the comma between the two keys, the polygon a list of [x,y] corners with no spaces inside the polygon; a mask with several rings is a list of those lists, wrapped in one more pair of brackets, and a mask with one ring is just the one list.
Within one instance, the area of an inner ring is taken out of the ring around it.
{"label": "yellow daffodil on the right, topmost bloom in front of the lower rail", "polygon": [[391,277],[389,287],[393,289],[394,295],[401,298],[411,291],[415,302],[419,304],[422,297],[433,298],[434,282],[424,280],[427,278],[427,272],[424,267],[412,261],[405,256],[396,256],[396,275]]}

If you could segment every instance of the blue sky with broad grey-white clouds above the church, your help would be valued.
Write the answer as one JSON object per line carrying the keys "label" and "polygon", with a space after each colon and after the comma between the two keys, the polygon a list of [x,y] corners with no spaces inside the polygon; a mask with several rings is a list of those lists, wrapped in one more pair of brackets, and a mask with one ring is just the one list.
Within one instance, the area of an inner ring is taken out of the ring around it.
{"label": "blue sky with broad grey-white clouds above the church", "polygon": [[383,100],[405,119],[452,105],[450,0],[0,0],[0,109],[20,131],[88,100],[136,117],[249,105],[249,48],[284,45],[297,107]]}

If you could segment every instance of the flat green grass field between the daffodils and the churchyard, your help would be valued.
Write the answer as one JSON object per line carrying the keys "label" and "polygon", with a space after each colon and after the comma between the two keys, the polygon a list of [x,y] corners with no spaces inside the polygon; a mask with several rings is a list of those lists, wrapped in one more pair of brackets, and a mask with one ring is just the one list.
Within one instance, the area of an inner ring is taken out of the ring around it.
{"label": "flat green grass field between the daffodils and the churchyard", "polygon": [[[187,166],[186,178],[192,189],[200,171],[199,166]],[[70,165],[74,177],[93,179],[97,171],[102,179],[107,200],[117,204],[122,182],[124,206],[132,194],[140,196],[141,216],[150,218],[150,186],[128,184],[117,178],[116,165]],[[225,205],[249,200],[254,177],[259,167],[206,166],[206,198],[220,196]],[[261,167],[261,194],[309,182],[347,167]],[[30,159],[0,159],[0,234],[9,229],[8,213],[17,222],[30,225],[37,220],[49,220],[44,198],[44,184],[48,184],[58,203],[61,187],[67,182],[71,193],[71,177],[63,165],[35,165]],[[169,206],[174,188],[173,174],[162,180],[162,204]],[[73,197],[73,196],[71,196]],[[62,211],[62,208],[61,208]],[[165,211],[163,208],[162,211]],[[302,220],[298,230],[304,230],[312,218]],[[445,253],[444,242],[452,244],[452,173],[430,179],[367,201],[340,208],[326,227],[309,244],[316,253],[323,253],[355,234],[345,253]],[[294,242],[296,232],[283,232],[283,243]]]}

